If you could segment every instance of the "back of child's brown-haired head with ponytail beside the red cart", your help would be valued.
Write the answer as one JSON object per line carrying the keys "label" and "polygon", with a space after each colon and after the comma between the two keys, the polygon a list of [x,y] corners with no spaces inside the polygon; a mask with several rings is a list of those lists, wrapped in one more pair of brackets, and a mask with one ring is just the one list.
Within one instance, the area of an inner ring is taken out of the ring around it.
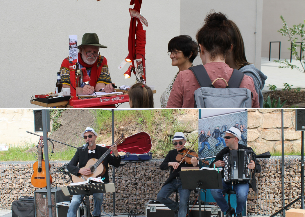
{"label": "back of child's brown-haired head with ponytail beside the red cart", "polygon": [[129,90],[130,108],[153,108],[153,94],[149,86],[136,83]]}

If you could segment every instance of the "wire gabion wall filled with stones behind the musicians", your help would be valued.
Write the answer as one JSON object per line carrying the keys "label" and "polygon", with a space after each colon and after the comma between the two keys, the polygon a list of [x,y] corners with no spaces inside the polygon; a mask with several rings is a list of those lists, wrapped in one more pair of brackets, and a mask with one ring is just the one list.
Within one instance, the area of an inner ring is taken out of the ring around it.
{"label": "wire gabion wall filled with stones behind the musicians", "polygon": [[[247,201],[248,215],[271,215],[279,210],[282,202],[282,177],[281,162],[279,156],[258,159],[262,166],[262,171],[256,174],[258,191],[249,191]],[[284,192],[285,204],[298,197],[300,193],[301,165],[300,156],[286,156],[284,159]],[[145,214],[145,203],[151,199],[156,199],[162,184],[169,176],[169,171],[161,171],[160,164],[163,159],[148,160],[144,162],[122,161],[121,167],[115,170],[116,182],[116,214],[128,214],[134,209],[136,214]],[[34,162],[5,162],[0,163],[0,207],[11,208],[11,203],[21,195],[34,196],[34,188],[30,183],[33,174]],[[67,162],[51,163],[52,186],[66,186],[62,173],[56,173],[57,167],[62,167]],[[109,168],[110,182],[113,180],[112,167]],[[175,195],[171,195],[174,198]],[[190,200],[195,200],[194,191]],[[235,195],[234,195],[235,196]],[[93,204],[91,202],[91,204]],[[300,202],[291,206],[300,208]],[[113,194],[104,195],[103,210],[106,213],[113,212]]]}

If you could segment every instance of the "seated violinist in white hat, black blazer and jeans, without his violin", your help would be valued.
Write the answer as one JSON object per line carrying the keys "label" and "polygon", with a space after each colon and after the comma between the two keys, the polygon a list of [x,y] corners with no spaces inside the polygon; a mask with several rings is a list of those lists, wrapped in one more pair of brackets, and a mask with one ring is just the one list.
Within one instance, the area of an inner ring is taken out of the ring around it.
{"label": "seated violinist in white hat, black blazer and jeans, without his violin", "polygon": [[[199,160],[197,160],[196,157],[192,157],[191,164],[183,162],[179,165],[176,157],[178,152],[185,150],[184,145],[186,143],[186,138],[182,132],[176,132],[171,140],[174,143],[175,149],[168,152],[160,165],[161,170],[167,170],[170,167],[170,176],[167,178],[166,182],[159,191],[157,199],[159,202],[175,211],[174,217],[185,217],[188,210],[187,203],[191,190],[182,189],[179,171],[181,171],[181,167],[196,167]],[[179,192],[180,203],[169,198],[169,196],[176,190]]]}

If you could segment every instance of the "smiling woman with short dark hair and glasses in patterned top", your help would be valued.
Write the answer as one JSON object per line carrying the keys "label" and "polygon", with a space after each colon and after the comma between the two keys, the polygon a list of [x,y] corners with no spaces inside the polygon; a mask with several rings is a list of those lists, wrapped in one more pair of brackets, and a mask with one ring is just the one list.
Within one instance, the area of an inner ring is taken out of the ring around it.
{"label": "smiling woman with short dark hair and glasses in patterned top", "polygon": [[198,45],[192,40],[192,37],[188,35],[180,35],[172,38],[168,43],[167,49],[167,53],[172,60],[172,66],[177,66],[179,71],[161,95],[161,107],[166,107],[170,91],[178,73],[191,67],[194,59],[198,55]]}

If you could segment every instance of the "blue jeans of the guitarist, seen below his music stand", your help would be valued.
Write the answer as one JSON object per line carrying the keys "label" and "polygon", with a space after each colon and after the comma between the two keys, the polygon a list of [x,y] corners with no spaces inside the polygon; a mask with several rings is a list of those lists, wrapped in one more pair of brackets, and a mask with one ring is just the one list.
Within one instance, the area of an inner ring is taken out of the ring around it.
{"label": "blue jeans of the guitarist, seen below his music stand", "polygon": [[[79,208],[79,205],[81,205],[81,199],[83,199],[84,196],[85,195],[73,195],[70,207],[68,209],[67,217],[76,216],[77,209]],[[103,197],[104,197],[103,193],[93,194],[94,210],[92,212],[92,215],[95,216],[101,215],[101,206],[103,204]]]}

